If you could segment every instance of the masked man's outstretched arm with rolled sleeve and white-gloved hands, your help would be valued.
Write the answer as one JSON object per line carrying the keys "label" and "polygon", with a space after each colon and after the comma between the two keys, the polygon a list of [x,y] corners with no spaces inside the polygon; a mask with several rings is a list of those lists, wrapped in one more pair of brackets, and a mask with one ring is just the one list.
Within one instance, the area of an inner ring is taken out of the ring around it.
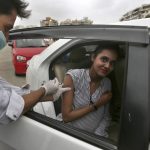
{"label": "masked man's outstretched arm with rolled sleeve and white-gloved hands", "polygon": [[49,80],[38,90],[27,93],[21,92],[21,88],[14,87],[5,81],[3,82],[3,80],[0,80],[0,83],[0,124],[8,124],[17,120],[21,114],[31,109],[43,96],[49,101],[57,100],[61,93],[69,90],[62,88],[57,79]]}

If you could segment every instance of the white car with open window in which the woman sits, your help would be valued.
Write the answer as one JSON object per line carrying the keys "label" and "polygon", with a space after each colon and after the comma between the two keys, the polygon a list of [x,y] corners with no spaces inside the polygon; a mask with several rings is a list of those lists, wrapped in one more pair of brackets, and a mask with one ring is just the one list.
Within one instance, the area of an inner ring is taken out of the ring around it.
{"label": "white car with open window in which the woman sits", "polygon": [[115,43],[122,58],[112,81],[112,122],[109,138],[61,121],[61,98],[38,103],[17,122],[0,127],[3,150],[148,150],[150,138],[150,34],[148,27],[124,25],[58,26],[12,31],[11,38],[58,38],[28,63],[27,83],[35,90],[65,72],[85,68],[91,53],[103,43]]}

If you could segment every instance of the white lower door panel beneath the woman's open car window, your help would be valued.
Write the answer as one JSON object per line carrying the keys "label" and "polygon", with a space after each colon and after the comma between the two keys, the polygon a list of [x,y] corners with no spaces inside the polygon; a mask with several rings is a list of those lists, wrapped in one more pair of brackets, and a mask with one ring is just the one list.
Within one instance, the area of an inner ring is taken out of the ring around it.
{"label": "white lower door panel beneath the woman's open car window", "polygon": [[0,132],[0,140],[16,150],[59,150],[62,147],[65,150],[100,150],[25,116],[5,127],[0,126]]}

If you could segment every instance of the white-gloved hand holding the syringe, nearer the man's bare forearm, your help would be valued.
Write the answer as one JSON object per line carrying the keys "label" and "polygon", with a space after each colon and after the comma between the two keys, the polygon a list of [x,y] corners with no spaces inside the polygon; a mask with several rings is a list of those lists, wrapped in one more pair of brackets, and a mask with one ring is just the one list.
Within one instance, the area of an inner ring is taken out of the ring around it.
{"label": "white-gloved hand holding the syringe, nearer the man's bare forearm", "polygon": [[57,90],[59,88],[58,79],[55,78],[54,80],[49,80],[48,82],[46,82],[41,87],[43,87],[45,89],[45,96],[49,95],[49,94],[54,94],[57,92]]}

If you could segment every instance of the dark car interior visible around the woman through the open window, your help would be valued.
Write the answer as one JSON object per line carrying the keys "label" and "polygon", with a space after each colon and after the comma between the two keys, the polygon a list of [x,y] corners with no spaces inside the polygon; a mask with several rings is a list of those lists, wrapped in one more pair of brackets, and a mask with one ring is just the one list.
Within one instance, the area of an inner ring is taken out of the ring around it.
{"label": "dark car interior visible around the woman through the open window", "polygon": [[[50,79],[57,77],[59,82],[63,83],[65,73],[69,69],[75,68],[88,68],[90,65],[91,54],[101,43],[107,41],[82,43],[75,47],[69,48],[65,53],[62,53],[56,58],[49,67]],[[123,95],[123,87],[125,80],[125,53],[127,44],[119,43],[120,47],[120,59],[115,64],[115,69],[108,76],[112,82],[113,97],[110,104],[111,124],[108,129],[109,139],[117,143],[119,136],[119,121],[121,113],[121,103]],[[59,116],[61,113],[61,98],[54,102],[56,114]],[[59,119],[58,119],[59,120]]]}

